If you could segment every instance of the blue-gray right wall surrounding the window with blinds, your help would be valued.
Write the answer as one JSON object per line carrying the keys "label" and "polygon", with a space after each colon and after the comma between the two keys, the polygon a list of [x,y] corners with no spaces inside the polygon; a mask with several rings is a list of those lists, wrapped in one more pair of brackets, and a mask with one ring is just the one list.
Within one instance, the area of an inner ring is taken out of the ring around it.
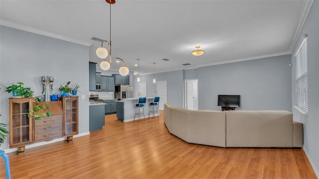
{"label": "blue-gray right wall surrounding the window with blinds", "polygon": [[[295,106],[296,102],[296,60],[295,54],[304,40],[307,39],[308,68],[308,115],[303,114]],[[304,150],[310,160],[317,177],[319,177],[319,0],[314,4],[307,16],[306,22],[296,42],[292,53],[292,105],[294,120],[304,123]]]}

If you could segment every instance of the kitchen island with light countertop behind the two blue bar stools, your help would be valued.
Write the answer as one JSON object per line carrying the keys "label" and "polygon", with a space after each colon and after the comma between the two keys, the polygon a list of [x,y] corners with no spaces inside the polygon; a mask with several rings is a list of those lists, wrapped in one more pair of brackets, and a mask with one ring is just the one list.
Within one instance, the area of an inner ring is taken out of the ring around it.
{"label": "kitchen island with light countertop behind the two blue bar stools", "polygon": [[[154,101],[154,97],[147,97],[146,103],[144,106],[144,115],[146,118],[153,117],[153,113],[150,113],[149,116],[149,106],[150,103]],[[117,118],[120,121],[123,122],[129,122],[134,120],[135,116],[135,107],[136,104],[139,102],[139,98],[125,98],[123,100],[117,101]],[[156,108],[155,108],[156,109]],[[160,112],[158,111],[160,114]],[[157,113],[155,113],[155,116],[158,116]],[[140,118],[139,118],[140,117]],[[144,119],[144,116],[136,116],[135,120]]]}

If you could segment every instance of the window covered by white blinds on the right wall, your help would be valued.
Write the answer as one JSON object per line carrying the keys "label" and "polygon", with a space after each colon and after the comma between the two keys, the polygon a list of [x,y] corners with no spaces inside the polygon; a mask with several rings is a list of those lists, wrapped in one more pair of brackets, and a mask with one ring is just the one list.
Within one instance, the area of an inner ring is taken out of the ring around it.
{"label": "window covered by white blinds on the right wall", "polygon": [[296,89],[297,106],[308,111],[308,84],[307,84],[307,38],[304,39],[296,53]]}

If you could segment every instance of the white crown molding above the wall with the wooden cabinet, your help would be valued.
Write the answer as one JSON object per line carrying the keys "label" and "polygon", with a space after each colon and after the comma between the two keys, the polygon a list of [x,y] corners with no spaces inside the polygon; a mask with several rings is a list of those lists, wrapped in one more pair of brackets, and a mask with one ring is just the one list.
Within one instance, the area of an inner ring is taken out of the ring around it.
{"label": "white crown molding above the wall with the wooden cabinet", "polygon": [[0,19],[0,25],[4,25],[4,26],[7,26],[7,27],[12,27],[12,28],[15,28],[15,29],[19,29],[19,30],[23,30],[23,31],[27,31],[27,32],[32,32],[32,33],[35,33],[35,34],[44,35],[44,36],[48,36],[48,37],[52,37],[52,38],[56,38],[56,39],[60,39],[60,40],[65,40],[65,41],[68,41],[68,42],[72,42],[72,43],[76,43],[76,44],[80,44],[80,45],[85,45],[85,46],[88,46],[88,47],[92,45],[91,43],[88,43],[88,42],[72,39],[72,38],[69,38],[69,37],[66,37],[66,36],[54,34],[54,33],[47,32],[47,31],[44,31],[44,30],[41,30],[41,29],[33,28],[33,27],[30,27],[30,26],[26,26],[26,25],[21,25],[21,24],[18,24],[18,23],[15,23],[15,22],[10,22],[10,21],[3,20],[3,19]]}

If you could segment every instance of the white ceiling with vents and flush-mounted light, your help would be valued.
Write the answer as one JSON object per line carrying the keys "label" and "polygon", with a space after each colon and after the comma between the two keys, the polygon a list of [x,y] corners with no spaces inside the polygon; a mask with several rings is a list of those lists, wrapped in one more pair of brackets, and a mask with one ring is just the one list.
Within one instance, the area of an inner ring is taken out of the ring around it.
{"label": "white ceiling with vents and flush-mounted light", "polygon": [[[309,0],[116,0],[112,56],[131,71],[139,58],[140,73],[148,74],[153,62],[165,72],[290,54],[309,8]],[[2,25],[92,45],[92,62],[102,59],[94,54],[101,43],[91,38],[110,40],[105,0],[1,0],[0,18]],[[191,54],[197,45],[202,56]]]}

